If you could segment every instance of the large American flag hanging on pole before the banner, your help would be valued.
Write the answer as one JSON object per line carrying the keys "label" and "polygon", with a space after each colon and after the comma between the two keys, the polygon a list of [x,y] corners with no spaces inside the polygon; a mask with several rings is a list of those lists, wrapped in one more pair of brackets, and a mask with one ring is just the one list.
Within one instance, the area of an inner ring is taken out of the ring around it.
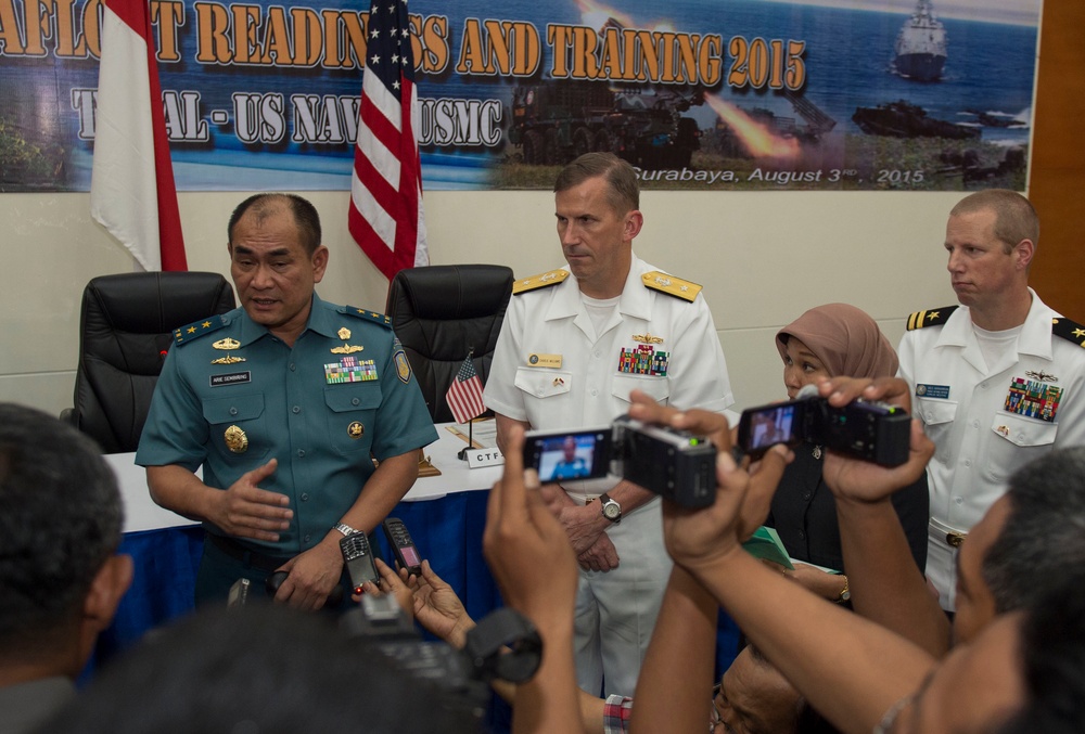
{"label": "large American flag hanging on pole before the banner", "polygon": [[430,262],[407,0],[374,0],[367,44],[347,223],[362,252],[392,280],[404,268]]}

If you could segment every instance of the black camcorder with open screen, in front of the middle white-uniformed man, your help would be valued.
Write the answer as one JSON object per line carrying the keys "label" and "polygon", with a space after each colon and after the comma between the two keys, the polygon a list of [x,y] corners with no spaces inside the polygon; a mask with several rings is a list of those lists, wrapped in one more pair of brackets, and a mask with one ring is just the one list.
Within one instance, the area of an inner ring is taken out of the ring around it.
{"label": "black camcorder with open screen, in front of the middle white-uniformed man", "polygon": [[524,438],[524,466],[544,484],[616,476],[684,507],[706,507],[716,498],[716,449],[686,430],[622,415],[605,427],[532,430]]}

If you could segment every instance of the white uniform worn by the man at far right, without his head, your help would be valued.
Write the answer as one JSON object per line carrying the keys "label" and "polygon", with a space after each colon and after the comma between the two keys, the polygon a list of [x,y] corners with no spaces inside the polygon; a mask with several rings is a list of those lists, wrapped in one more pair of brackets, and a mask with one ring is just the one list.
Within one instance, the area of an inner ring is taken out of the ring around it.
{"label": "white uniform worn by the man at far right, without his head", "polygon": [[901,376],[935,445],[927,466],[927,574],[947,609],[956,608],[956,550],[946,532],[971,529],[1031,460],[1085,443],[1085,349],[1052,336],[1051,320],[1060,314],[1029,293],[1032,306],[1017,348],[997,363],[984,361],[965,306],[943,326],[917,329],[901,340]]}

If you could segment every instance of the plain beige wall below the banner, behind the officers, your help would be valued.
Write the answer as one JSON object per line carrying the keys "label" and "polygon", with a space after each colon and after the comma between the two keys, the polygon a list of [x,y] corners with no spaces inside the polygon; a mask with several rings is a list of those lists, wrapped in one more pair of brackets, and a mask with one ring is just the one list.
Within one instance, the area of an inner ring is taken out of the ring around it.
{"label": "plain beige wall below the banner, behind the officers", "polygon": [[[331,249],[321,297],[383,310],[387,282],[346,232],[347,193],[305,195]],[[244,196],[180,196],[191,270],[229,274],[226,221]],[[743,408],[783,397],[773,336],[812,306],[854,304],[896,344],[910,311],[955,302],[942,241],[960,196],[651,191],[635,246],[649,262],[705,286]],[[88,202],[87,194],[0,195],[0,400],[53,413],[69,405],[84,285],[132,269],[127,250],[91,220]],[[534,274],[563,263],[549,192],[431,192],[425,206],[434,265],[497,262]]]}

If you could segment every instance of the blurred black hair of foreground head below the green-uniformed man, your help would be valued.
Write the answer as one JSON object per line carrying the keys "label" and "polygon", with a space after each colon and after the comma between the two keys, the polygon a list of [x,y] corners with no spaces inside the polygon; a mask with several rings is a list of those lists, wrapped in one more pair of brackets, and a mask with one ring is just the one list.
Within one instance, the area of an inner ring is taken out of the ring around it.
{"label": "blurred black hair of foreground head below the green-uniformed man", "polygon": [[207,607],[149,635],[42,731],[461,734],[480,724],[326,615],[265,602]]}

